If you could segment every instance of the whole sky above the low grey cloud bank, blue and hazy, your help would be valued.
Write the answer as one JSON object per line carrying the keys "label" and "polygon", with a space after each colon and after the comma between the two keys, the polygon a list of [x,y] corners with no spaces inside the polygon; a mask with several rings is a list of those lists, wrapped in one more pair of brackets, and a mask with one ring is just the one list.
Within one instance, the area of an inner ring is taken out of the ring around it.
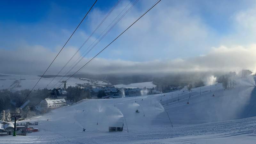
{"label": "whole sky above the low grey cloud bank, blue and hazy", "polygon": [[[131,3],[133,2],[134,0]],[[0,51],[3,55],[16,52],[29,55],[41,54],[47,58],[45,62],[47,65],[46,63],[54,58],[93,3],[94,1],[91,0],[2,1]],[[83,44],[116,3],[117,0],[98,0],[60,54],[59,61],[64,63],[72,56],[72,52]],[[92,44],[129,3],[129,0],[122,0],[117,5],[79,54]],[[89,59],[104,48],[153,3],[155,0],[139,0],[86,58]],[[126,63],[175,61],[204,56],[211,53],[213,48],[221,46],[246,47],[255,43],[256,20],[253,19],[255,8],[255,1],[251,0],[232,2],[162,0],[101,53],[99,58]],[[24,61],[23,63],[27,62],[26,59],[27,57],[19,58]]]}

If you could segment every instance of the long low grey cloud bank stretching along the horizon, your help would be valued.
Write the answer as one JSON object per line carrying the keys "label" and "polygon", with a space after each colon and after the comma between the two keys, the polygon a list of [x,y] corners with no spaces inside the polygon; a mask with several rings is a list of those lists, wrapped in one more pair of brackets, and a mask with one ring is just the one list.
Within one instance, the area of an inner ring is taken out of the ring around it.
{"label": "long low grey cloud bank stretching along the horizon", "polygon": [[[47,74],[55,75],[65,65],[76,49],[69,47],[56,59]],[[0,50],[0,73],[40,75],[49,66],[56,52],[44,47],[26,47],[16,50]],[[66,68],[79,57],[75,56]],[[228,72],[241,69],[256,70],[256,44],[248,47],[232,48],[220,46],[212,48],[205,55],[188,59],[125,61],[96,58],[79,73],[90,74],[154,74],[179,72]],[[73,71],[84,65],[89,58],[82,60]],[[66,69],[60,75],[63,75]]]}

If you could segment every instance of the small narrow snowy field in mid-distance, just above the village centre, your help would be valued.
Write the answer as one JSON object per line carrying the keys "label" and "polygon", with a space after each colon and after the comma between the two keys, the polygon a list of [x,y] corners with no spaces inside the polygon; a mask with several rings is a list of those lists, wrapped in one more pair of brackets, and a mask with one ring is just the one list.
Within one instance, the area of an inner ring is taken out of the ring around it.
{"label": "small narrow snowy field in mid-distance, just above the village centre", "polygon": [[156,87],[155,84],[153,84],[153,82],[143,82],[143,83],[132,83],[132,84],[117,84],[114,85],[116,88],[144,88],[146,86],[146,88],[152,88],[152,87]]}

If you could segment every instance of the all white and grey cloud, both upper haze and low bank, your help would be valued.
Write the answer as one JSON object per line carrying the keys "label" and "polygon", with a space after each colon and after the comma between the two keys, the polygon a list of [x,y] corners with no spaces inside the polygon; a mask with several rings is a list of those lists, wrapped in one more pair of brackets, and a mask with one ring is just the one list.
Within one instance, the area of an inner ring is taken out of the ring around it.
{"label": "all white and grey cloud, both upper haze and low bank", "polygon": [[[100,34],[127,4],[128,1],[120,4],[95,34]],[[142,5],[133,7],[106,36],[108,38],[95,47],[91,56],[127,28],[151,4],[153,2],[143,1]],[[221,12],[225,12],[224,9],[221,9]],[[105,11],[94,9],[87,20],[90,24],[87,25],[94,30],[106,14]],[[256,70],[256,7],[240,10],[231,17],[231,21],[234,31],[219,37],[215,29],[207,25],[201,15],[188,9],[186,4],[177,5],[170,1],[161,1],[111,44],[100,55],[101,58],[93,60],[82,72],[100,74],[238,71],[243,68]],[[65,29],[61,31],[68,34]],[[78,37],[86,39],[88,34],[90,33],[80,31]],[[92,40],[87,42],[84,49],[95,37],[97,35],[92,36]],[[82,43],[83,41],[79,44]],[[71,39],[69,45],[76,46],[65,47],[46,74],[56,74],[76,52],[79,44]],[[57,47],[55,51],[39,45],[25,45],[13,50],[0,48],[0,73],[40,75],[60,48]],[[70,64],[79,56],[76,55]],[[75,69],[81,67],[88,59],[89,57],[81,61]]]}

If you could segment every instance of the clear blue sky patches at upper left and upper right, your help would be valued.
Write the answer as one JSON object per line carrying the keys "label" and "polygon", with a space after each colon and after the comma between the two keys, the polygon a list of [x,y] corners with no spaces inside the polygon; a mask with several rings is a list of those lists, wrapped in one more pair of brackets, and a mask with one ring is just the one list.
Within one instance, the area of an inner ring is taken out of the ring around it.
{"label": "clear blue sky patches at upper left and upper right", "polygon": [[[21,43],[42,45],[50,49],[61,46],[75,29],[94,1],[2,1],[0,9],[1,48],[17,48]],[[117,0],[99,0],[93,10],[107,13]],[[148,4],[154,1],[141,0],[136,9],[142,13]],[[145,4],[148,3],[148,4]],[[198,16],[202,23],[211,28],[215,34],[223,36],[232,30],[229,18],[234,12],[248,6],[242,1],[166,1],[170,7],[182,7],[189,15]],[[159,4],[161,6],[161,3]],[[228,4],[228,5],[227,5]],[[160,7],[158,6],[158,7]],[[227,8],[227,7],[228,8]],[[217,9],[216,9],[217,8]],[[154,10],[152,11],[154,13]],[[91,13],[90,13],[91,14]],[[90,14],[88,17],[90,17]],[[136,14],[135,14],[136,15]],[[98,19],[100,22],[101,19]],[[85,20],[77,31],[91,33],[89,20]],[[96,24],[96,23],[95,23]],[[129,23],[130,24],[130,23]],[[76,34],[75,36],[77,36]],[[78,46],[83,39],[75,37],[69,45]],[[57,38],[58,37],[58,38]],[[110,39],[109,39],[110,40]],[[104,57],[104,56],[103,56]]]}

